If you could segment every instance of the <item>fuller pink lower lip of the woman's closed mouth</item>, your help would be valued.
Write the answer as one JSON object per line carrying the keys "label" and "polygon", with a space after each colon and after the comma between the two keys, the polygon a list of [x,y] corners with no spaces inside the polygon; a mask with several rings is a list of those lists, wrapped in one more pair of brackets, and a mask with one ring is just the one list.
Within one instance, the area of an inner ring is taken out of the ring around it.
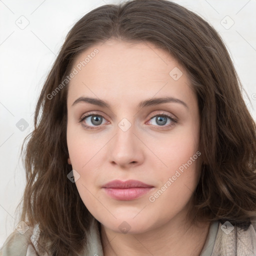
{"label": "fuller pink lower lip of the woman's closed mouth", "polygon": [[106,193],[117,200],[133,200],[146,194],[153,187],[104,188]]}

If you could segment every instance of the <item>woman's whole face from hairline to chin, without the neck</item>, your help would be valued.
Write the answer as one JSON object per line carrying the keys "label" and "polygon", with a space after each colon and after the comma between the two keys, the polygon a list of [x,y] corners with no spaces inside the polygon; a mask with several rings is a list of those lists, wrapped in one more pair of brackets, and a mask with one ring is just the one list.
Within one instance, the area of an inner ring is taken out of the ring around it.
{"label": "woman's whole face from hairline to chin, without the neck", "polygon": [[[68,162],[90,213],[131,233],[182,218],[200,161],[199,111],[185,70],[149,42],[108,40],[80,54],[72,72]],[[106,185],[113,180],[147,186]]]}

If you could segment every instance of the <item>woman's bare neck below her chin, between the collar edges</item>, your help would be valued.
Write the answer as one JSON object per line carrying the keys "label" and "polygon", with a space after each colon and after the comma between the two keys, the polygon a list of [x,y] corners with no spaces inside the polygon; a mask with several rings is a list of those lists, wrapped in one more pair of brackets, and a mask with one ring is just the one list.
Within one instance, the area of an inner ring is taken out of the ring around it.
{"label": "woman's bare neck below her chin, between the collar edges", "polygon": [[210,222],[190,225],[170,220],[162,226],[141,233],[118,233],[101,224],[104,256],[179,255],[199,256]]}

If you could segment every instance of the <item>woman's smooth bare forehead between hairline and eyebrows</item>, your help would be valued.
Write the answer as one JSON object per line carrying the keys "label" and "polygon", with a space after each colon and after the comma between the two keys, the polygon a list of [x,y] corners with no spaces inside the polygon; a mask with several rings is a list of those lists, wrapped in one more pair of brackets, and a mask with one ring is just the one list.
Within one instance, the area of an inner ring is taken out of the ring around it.
{"label": "woman's smooth bare forehead between hairline and eyebrows", "polygon": [[73,68],[77,74],[69,82],[68,101],[82,94],[124,102],[124,98],[191,93],[185,70],[167,51],[150,42],[95,44],[76,57]]}

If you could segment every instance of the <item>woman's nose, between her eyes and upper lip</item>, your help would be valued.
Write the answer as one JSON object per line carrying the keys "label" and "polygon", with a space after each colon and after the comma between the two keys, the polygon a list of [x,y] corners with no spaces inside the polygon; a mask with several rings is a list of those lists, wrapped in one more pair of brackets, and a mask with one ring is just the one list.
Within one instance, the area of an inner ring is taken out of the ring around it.
{"label": "woman's nose, between her eyes and upper lip", "polygon": [[130,124],[127,121],[126,123],[119,123],[119,126],[116,127],[115,136],[111,139],[108,148],[111,164],[122,168],[139,165],[144,159],[144,145],[138,134],[135,134],[137,132],[134,125],[131,124],[129,126]]}

